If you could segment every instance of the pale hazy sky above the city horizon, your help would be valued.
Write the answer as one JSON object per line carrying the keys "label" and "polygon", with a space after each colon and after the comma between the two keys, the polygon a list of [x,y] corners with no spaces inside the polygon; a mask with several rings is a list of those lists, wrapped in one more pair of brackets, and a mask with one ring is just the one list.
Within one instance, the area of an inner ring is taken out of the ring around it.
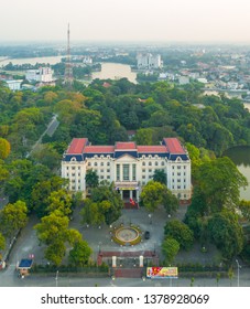
{"label": "pale hazy sky above the city horizon", "polygon": [[250,0],[0,0],[0,42],[250,43]]}

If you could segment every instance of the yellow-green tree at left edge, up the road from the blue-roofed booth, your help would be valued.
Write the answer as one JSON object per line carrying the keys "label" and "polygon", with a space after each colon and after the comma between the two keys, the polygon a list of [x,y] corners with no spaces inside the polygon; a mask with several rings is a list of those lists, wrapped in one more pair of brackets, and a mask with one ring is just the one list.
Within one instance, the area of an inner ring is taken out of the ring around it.
{"label": "yellow-green tree at left edge, up the road from the blue-roofed booth", "polygon": [[28,222],[28,207],[22,201],[7,204],[0,211],[0,230],[6,237],[13,237]]}

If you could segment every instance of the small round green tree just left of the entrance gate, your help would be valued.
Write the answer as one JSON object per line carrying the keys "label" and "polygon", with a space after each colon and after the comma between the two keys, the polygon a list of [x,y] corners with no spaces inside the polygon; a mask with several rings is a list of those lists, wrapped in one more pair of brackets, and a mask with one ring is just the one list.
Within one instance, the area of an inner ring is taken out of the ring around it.
{"label": "small round green tree just left of the entrance gate", "polygon": [[91,248],[86,241],[76,242],[69,252],[68,260],[74,266],[85,266],[89,262]]}

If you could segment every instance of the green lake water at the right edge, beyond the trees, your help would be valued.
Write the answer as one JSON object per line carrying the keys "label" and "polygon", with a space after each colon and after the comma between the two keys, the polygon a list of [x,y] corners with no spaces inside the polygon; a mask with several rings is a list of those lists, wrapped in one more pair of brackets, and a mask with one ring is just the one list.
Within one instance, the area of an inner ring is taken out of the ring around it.
{"label": "green lake water at the right edge, beyond the trees", "polygon": [[248,179],[249,185],[243,190],[240,189],[240,199],[250,201],[250,147],[239,146],[228,149],[225,156],[229,157],[238,170]]}

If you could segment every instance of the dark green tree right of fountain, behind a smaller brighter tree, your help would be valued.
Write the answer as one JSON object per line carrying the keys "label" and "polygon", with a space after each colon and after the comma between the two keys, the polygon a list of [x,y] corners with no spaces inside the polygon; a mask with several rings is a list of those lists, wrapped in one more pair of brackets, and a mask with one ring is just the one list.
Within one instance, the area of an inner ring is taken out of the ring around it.
{"label": "dark green tree right of fountain, behind a smaller brighter tree", "polygon": [[191,228],[183,222],[172,220],[165,224],[164,234],[166,237],[176,239],[180,247],[183,249],[189,249],[194,243],[194,234]]}

